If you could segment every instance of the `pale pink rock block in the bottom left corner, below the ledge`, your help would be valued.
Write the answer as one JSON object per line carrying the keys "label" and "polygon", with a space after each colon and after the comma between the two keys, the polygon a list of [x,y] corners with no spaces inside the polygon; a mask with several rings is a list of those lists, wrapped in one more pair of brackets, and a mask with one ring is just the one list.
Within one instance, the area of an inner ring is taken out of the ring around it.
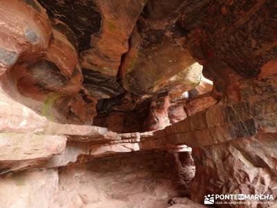
{"label": "pale pink rock block in the bottom left corner, below the ledge", "polygon": [[58,173],[54,169],[37,169],[0,177],[1,207],[59,207],[55,205]]}

